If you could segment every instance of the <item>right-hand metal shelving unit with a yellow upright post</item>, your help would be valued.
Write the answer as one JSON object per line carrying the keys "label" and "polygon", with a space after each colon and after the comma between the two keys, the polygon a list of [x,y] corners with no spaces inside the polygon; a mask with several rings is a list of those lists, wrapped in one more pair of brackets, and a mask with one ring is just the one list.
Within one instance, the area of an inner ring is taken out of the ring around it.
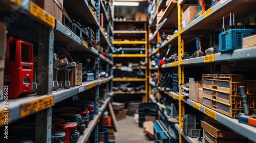
{"label": "right-hand metal shelving unit with a yellow upright post", "polygon": [[[230,64],[231,62],[232,63],[241,62],[242,64],[247,61],[249,62],[255,61],[256,59],[255,46],[248,47],[245,49],[234,50],[232,52],[222,52],[222,53],[217,53],[212,55],[206,55],[203,57],[190,58],[190,59],[183,60],[182,55],[184,54],[184,52],[187,52],[184,50],[184,48],[186,48],[186,50],[189,51],[190,50],[188,48],[189,45],[193,43],[193,41],[196,40],[196,38],[206,37],[206,39],[207,38],[209,39],[209,37],[207,36],[211,34],[210,30],[214,30],[215,33],[221,30],[223,25],[223,16],[225,16],[224,25],[226,27],[228,25],[230,13],[235,13],[234,14],[235,22],[241,22],[245,20],[245,17],[252,16],[252,15],[254,16],[256,13],[256,11],[253,10],[252,7],[249,7],[249,6],[255,6],[256,5],[255,1],[232,1],[232,0],[219,1],[218,3],[216,3],[216,5],[209,7],[209,9],[204,12],[204,14],[202,14],[195,20],[188,23],[185,27],[182,27],[181,18],[182,18],[183,9],[185,10],[185,8],[187,8],[189,4],[194,4],[194,2],[196,4],[196,1],[180,0],[177,2],[176,5],[173,5],[172,8],[168,8],[169,6],[172,5],[172,2],[171,2],[169,3],[168,7],[165,9],[158,23],[154,23],[152,25],[152,23],[150,22],[149,32],[154,31],[153,32],[154,34],[150,39],[150,44],[152,45],[154,45],[156,42],[158,42],[161,39],[161,32],[165,32],[166,29],[174,29],[175,28],[173,27],[174,23],[177,24],[176,30],[178,30],[177,33],[173,34],[161,46],[156,47],[156,50],[148,54],[149,57],[154,56],[155,54],[160,53],[161,50],[166,49],[166,47],[169,44],[172,44],[173,46],[178,46],[178,61],[159,66],[158,69],[155,69],[155,70],[158,70],[158,74],[161,71],[169,71],[169,69],[173,69],[173,67],[178,67],[178,75],[179,75],[178,80],[179,80],[179,85],[181,85],[181,84],[184,84],[185,69],[193,68],[193,66],[200,66],[200,67],[210,66],[212,69],[215,69],[216,66],[221,66],[222,64],[224,65]],[[161,1],[159,3],[159,6],[160,5],[162,5]],[[234,7],[238,9],[233,9]],[[159,12],[159,8],[156,10],[155,14]],[[239,26],[237,26],[237,28],[239,29]],[[149,45],[149,46],[151,47],[152,45]],[[188,73],[186,74],[187,74],[186,76],[189,75]],[[149,76],[151,79],[151,75]],[[150,84],[150,88],[155,87],[155,82],[149,81],[148,83]],[[179,88],[181,90],[180,86]],[[188,110],[185,108],[185,104],[188,104],[191,107],[198,109],[202,113],[214,118],[216,121],[219,121],[223,125],[227,126],[227,128],[247,137],[249,140],[252,140],[252,141],[255,140],[255,134],[256,134],[255,127],[239,124],[236,118],[230,118],[215,110],[207,108],[197,102],[186,99],[184,96],[182,96],[181,92],[179,93],[164,92],[164,93],[168,94],[173,99],[179,101],[179,125],[176,125],[176,128],[180,133],[180,137],[179,137],[180,142],[184,142],[185,140],[187,142],[198,142],[197,141],[198,138],[190,138],[183,134],[183,131],[182,131],[183,115],[185,114],[185,110]]]}

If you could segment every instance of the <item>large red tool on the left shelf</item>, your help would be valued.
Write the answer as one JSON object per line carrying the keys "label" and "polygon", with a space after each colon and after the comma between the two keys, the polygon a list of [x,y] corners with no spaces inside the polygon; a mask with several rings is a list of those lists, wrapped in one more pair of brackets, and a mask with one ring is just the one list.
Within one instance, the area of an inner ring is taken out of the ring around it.
{"label": "large red tool on the left shelf", "polygon": [[8,37],[4,76],[4,84],[12,89],[8,90],[8,98],[28,96],[32,91],[33,76],[33,44]]}

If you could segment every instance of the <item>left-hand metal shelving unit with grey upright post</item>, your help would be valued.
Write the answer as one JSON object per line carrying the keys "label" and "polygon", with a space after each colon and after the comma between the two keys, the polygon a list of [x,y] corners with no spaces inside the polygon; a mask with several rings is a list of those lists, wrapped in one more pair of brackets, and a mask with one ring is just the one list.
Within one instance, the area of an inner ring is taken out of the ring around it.
{"label": "left-hand metal shelving unit with grey upright post", "polygon": [[[109,18],[110,11],[106,11],[103,2],[97,1],[98,8],[96,13],[92,11],[91,7],[88,4],[88,1],[67,1],[64,3],[65,9],[68,11],[68,14],[73,17],[79,17],[81,20],[86,21],[86,23],[96,29],[95,39],[99,41],[102,47],[105,50],[110,49],[112,43],[106,38],[103,30],[99,26],[99,12],[100,9],[103,12],[103,17],[106,23],[111,23],[112,17]],[[94,81],[83,82],[79,86],[71,87],[69,89],[57,89],[52,90],[53,82],[53,51],[60,51],[59,47],[54,47],[55,43],[58,45],[74,45],[76,52],[85,52],[90,53],[91,57],[99,57],[101,60],[106,62],[106,68],[109,65],[113,65],[113,61],[109,58],[104,57],[102,54],[94,49],[94,47],[89,46],[88,43],[82,38],[78,37],[71,30],[62,25],[58,20],[53,16],[48,14],[44,9],[41,9],[35,3],[29,0],[18,0],[18,1],[0,1],[0,9],[6,12],[1,12],[0,17],[2,21],[3,17],[12,17],[11,11],[18,11],[19,19],[15,19],[13,23],[5,23],[7,26],[7,31],[15,33],[20,37],[32,41],[33,44],[38,44],[38,67],[48,67],[38,68],[37,78],[41,78],[40,73],[47,73],[42,80],[42,84],[39,84],[37,87],[37,93],[30,94],[28,97],[18,98],[18,99],[9,99],[8,106],[4,101],[0,102],[0,114],[8,112],[8,125],[12,124],[15,121],[18,121],[26,116],[32,115],[35,113],[36,116],[36,136],[35,142],[51,142],[51,121],[52,121],[52,107],[67,98],[73,97],[75,94],[93,89],[95,91],[95,101],[99,98],[99,85],[109,84],[112,82],[113,76],[99,79],[98,71],[95,74]],[[8,12],[10,11],[10,12]],[[87,14],[84,14],[87,13]],[[24,22],[26,21],[26,22]],[[6,22],[6,21],[5,21]],[[2,25],[2,22],[1,22]],[[16,27],[23,26],[24,29],[18,29]],[[35,27],[38,29],[35,29]],[[113,27],[110,25],[107,29],[111,29],[113,35]],[[26,29],[30,29],[26,31]],[[25,30],[25,31],[24,31]],[[4,34],[6,36],[6,34]],[[6,37],[3,37],[4,39]],[[6,42],[6,41],[3,41]],[[60,44],[61,43],[61,44]],[[5,44],[3,44],[5,45]],[[111,54],[110,54],[111,55]],[[44,59],[44,60],[41,60]],[[1,60],[2,62],[2,60]],[[3,82],[3,81],[2,81]],[[2,88],[2,87],[1,87]],[[109,88],[109,86],[107,86]],[[112,87],[111,87],[112,88]],[[9,89],[11,90],[11,89]],[[13,90],[13,89],[12,89]],[[109,94],[109,90],[106,90]],[[111,97],[108,97],[102,107],[98,108],[98,103],[95,104],[95,116],[94,120],[90,122],[89,127],[79,138],[78,142],[86,142],[90,137],[91,133],[95,135],[98,134],[98,119],[102,115],[102,112],[106,109],[106,105],[111,101]],[[3,127],[3,123],[6,119],[3,118],[3,115],[0,118],[0,126]],[[98,142],[98,138],[95,137],[95,142]]]}

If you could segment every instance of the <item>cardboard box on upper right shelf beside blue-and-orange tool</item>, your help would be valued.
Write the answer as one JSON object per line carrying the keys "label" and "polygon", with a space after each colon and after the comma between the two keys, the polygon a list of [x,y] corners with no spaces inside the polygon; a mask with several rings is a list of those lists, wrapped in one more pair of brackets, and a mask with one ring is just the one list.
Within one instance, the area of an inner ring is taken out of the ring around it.
{"label": "cardboard box on upper right shelf beside blue-and-orange tool", "polygon": [[195,19],[195,16],[198,14],[198,6],[188,7],[182,14],[181,27],[185,27],[189,22]]}

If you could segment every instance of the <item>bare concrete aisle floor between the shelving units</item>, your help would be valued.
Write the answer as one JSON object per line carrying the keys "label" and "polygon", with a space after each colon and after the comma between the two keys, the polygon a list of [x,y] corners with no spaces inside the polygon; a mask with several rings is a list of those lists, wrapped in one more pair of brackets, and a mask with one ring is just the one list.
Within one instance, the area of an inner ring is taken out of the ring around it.
{"label": "bare concrete aisle floor between the shelving units", "polygon": [[143,128],[139,127],[139,124],[134,123],[134,117],[126,115],[126,118],[117,121],[118,132],[115,132],[116,143],[147,143],[154,142],[154,140],[148,140],[144,136]]}

